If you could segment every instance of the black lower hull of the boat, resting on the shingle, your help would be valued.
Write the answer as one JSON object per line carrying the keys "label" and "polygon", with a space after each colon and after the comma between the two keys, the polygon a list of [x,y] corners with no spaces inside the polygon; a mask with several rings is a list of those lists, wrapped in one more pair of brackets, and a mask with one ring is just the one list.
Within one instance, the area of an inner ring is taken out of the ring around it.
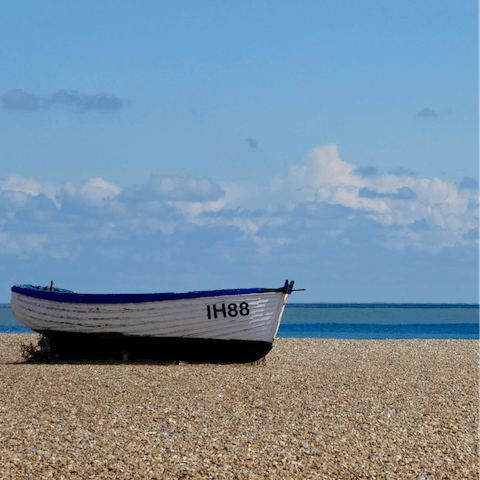
{"label": "black lower hull of the boat, resting on the shingle", "polygon": [[39,332],[58,360],[161,360],[190,363],[247,363],[264,357],[270,342],[175,337],[137,337],[119,333]]}

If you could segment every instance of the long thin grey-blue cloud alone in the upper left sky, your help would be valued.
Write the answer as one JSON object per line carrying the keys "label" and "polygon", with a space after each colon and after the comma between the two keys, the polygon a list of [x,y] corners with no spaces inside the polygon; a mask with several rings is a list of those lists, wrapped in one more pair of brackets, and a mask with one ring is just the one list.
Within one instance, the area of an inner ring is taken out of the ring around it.
{"label": "long thin grey-blue cloud alone in the upper left sky", "polygon": [[130,104],[113,95],[83,95],[75,90],[59,90],[50,96],[34,95],[21,89],[12,89],[2,96],[2,104],[6,110],[36,112],[63,107],[74,112],[83,113],[89,110],[117,111]]}

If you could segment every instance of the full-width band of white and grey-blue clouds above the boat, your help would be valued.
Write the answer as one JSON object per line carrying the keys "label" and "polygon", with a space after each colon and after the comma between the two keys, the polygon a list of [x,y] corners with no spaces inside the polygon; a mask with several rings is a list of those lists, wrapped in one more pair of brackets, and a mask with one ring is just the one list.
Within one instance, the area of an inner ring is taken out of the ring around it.
{"label": "full-width band of white and grey-blue clouds above the boat", "polygon": [[[187,238],[191,231],[207,235],[215,229],[228,229],[227,245],[250,242],[261,255],[287,244],[301,250],[310,241],[323,248],[361,239],[429,253],[477,242],[471,234],[477,225],[476,190],[460,188],[453,179],[360,176],[336,145],[313,149],[263,190],[168,176],[125,189],[103,178],[53,185],[9,174],[0,177],[0,202],[0,248],[7,255],[65,257],[92,238],[105,248],[118,239],[128,245],[142,235]],[[222,248],[222,255],[232,258]]]}

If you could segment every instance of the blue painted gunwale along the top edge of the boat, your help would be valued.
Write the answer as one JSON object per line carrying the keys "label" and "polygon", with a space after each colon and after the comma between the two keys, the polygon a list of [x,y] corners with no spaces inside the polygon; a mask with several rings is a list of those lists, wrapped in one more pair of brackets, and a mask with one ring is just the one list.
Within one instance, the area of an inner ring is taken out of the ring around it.
{"label": "blue painted gunwale along the top edge of the boat", "polygon": [[235,295],[251,295],[265,292],[290,293],[291,288],[240,288],[235,290],[209,290],[187,293],[75,293],[71,290],[54,288],[51,292],[41,286],[14,285],[12,292],[27,297],[40,298],[53,302],[87,303],[87,304],[112,304],[112,303],[145,303],[165,302],[168,300],[184,300],[191,298],[223,297]]}

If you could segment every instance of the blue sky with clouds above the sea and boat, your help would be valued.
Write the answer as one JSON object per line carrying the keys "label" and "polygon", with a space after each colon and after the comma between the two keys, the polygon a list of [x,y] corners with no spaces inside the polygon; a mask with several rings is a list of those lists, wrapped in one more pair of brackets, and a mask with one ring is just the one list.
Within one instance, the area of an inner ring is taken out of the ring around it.
{"label": "blue sky with clouds above the sea and boat", "polygon": [[0,302],[478,301],[478,5],[9,2]]}

